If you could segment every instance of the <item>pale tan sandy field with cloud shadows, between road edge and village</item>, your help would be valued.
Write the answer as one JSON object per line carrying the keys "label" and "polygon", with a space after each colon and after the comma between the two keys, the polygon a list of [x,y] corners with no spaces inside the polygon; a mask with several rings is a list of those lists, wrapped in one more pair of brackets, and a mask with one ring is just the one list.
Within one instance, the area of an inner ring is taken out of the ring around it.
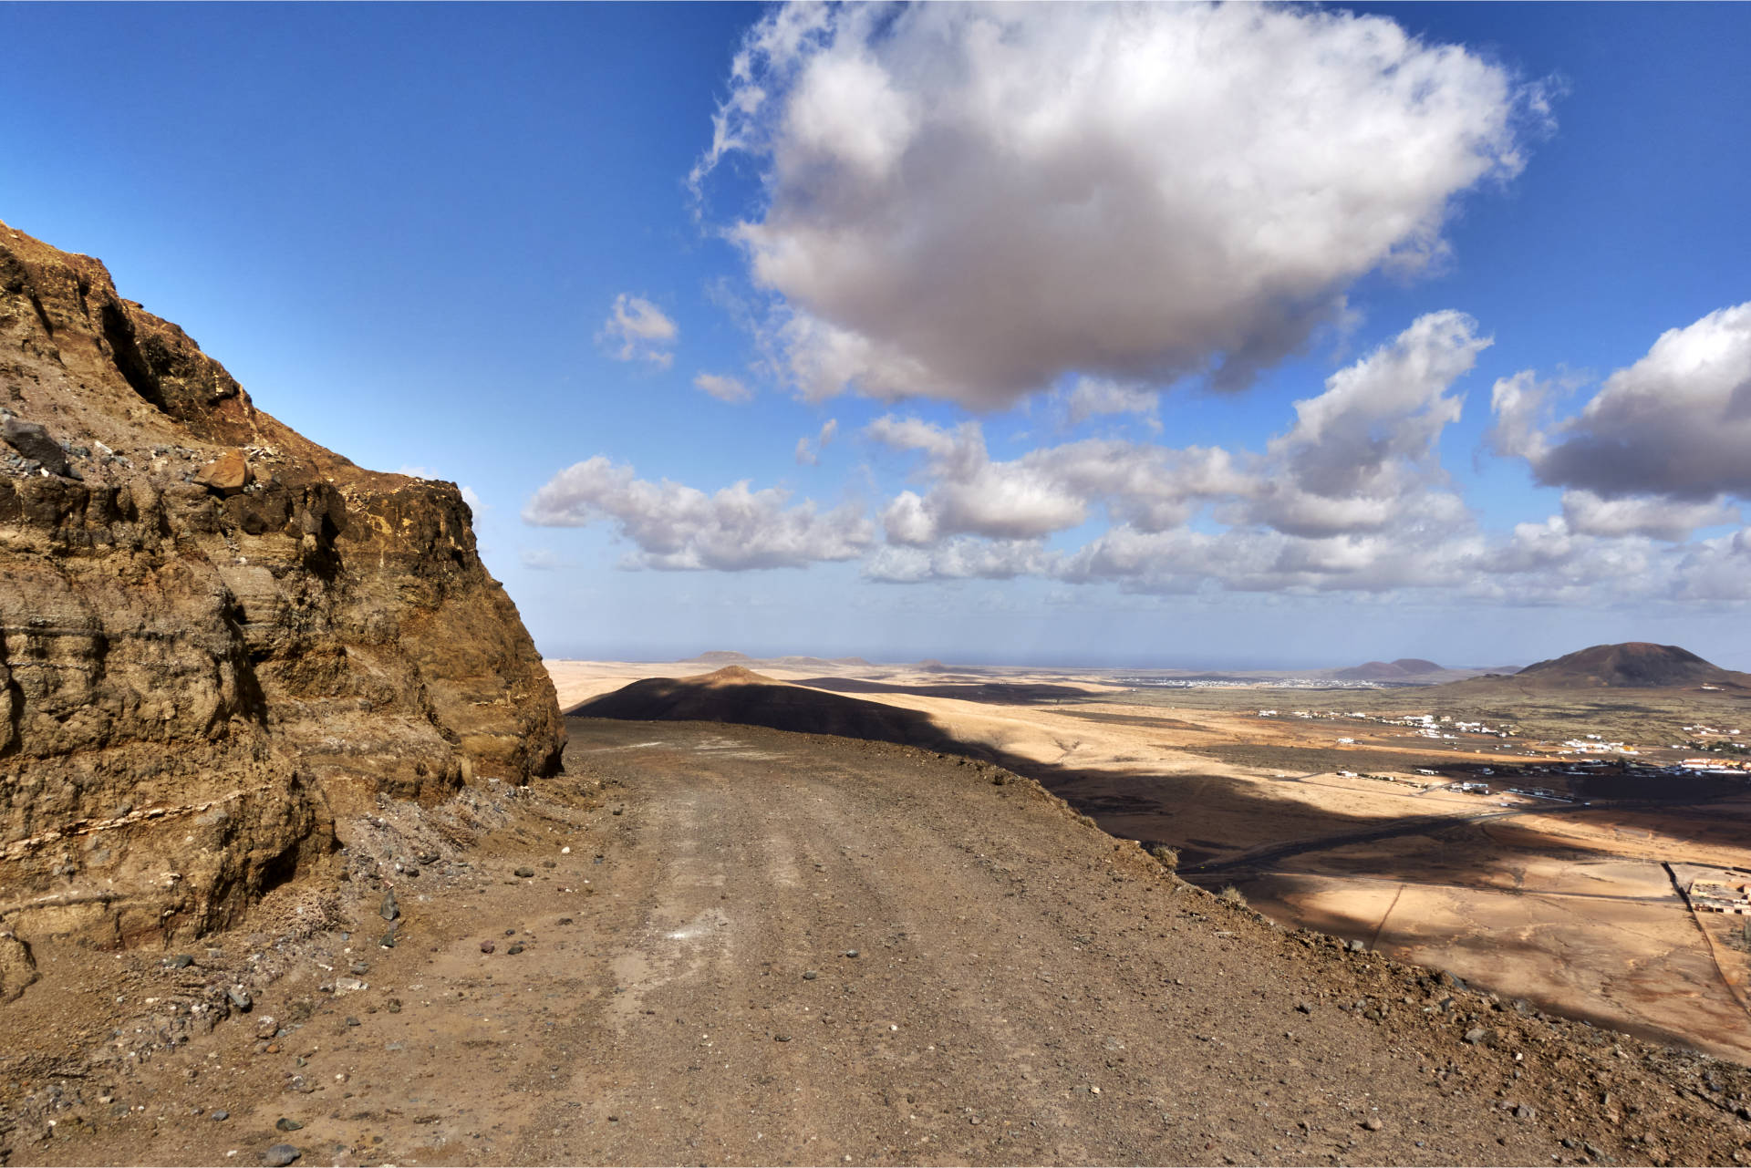
{"label": "pale tan sandy field with cloud shadows, between road edge and village", "polygon": [[[714,667],[548,662],[567,709],[639,678]],[[1417,769],[1508,767],[1527,762],[1527,744],[1259,718],[1245,695],[1226,709],[1180,707],[1161,693],[1140,706],[1098,674],[1065,671],[755,667],[921,711],[956,739],[1028,769],[1108,832],[1173,844],[1189,879],[1233,883],[1289,925],[1359,939],[1569,1016],[1751,1061],[1751,960],[1723,940],[1732,925],[1690,912],[1662,867],[1751,869],[1751,786],[1695,806],[1560,806],[1504,795],[1501,783],[1492,795],[1469,795],[1425,790],[1466,776]],[[947,695],[954,685],[977,700]],[[1005,700],[1000,686],[1054,690]],[[1354,692],[1306,700],[1366,707]]]}

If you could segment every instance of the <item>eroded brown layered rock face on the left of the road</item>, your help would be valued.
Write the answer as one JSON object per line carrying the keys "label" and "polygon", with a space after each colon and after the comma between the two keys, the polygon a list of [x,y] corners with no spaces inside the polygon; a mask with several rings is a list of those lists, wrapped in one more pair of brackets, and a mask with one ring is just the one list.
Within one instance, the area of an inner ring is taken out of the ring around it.
{"label": "eroded brown layered rock face on the left of the road", "polygon": [[455,485],[301,438],[103,264],[5,224],[0,426],[0,926],[25,942],[226,926],[378,793],[559,769],[553,685]]}

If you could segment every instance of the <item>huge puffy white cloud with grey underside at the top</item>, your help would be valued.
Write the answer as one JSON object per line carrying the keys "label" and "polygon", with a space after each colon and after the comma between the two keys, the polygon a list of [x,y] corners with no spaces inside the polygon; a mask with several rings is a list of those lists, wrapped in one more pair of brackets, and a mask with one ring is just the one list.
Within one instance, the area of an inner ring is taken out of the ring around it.
{"label": "huge puffy white cloud with grey underside at the top", "polygon": [[804,394],[993,408],[1068,369],[1243,383],[1352,280],[1439,256],[1529,112],[1536,88],[1375,16],[786,5],[693,182],[762,170],[732,236]]}

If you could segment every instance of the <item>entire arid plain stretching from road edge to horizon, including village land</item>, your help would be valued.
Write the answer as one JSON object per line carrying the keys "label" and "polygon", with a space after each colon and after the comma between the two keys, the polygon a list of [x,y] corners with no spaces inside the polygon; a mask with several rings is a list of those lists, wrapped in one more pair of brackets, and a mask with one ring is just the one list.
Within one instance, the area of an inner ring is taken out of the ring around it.
{"label": "entire arid plain stretching from road edge to horizon, including village land", "polygon": [[[949,751],[1037,777],[1114,835],[1173,846],[1185,879],[1233,884],[1285,925],[1751,1061],[1746,918],[1691,912],[1683,895],[1695,876],[1751,870],[1751,781],[1621,776],[1564,748],[1621,741],[1637,762],[1676,762],[1684,727],[1737,727],[1751,713],[1739,693],[1553,697],[1504,692],[1499,679],[1278,688],[1271,678],[1212,685],[1168,674],[1136,685],[1145,679],[1096,671],[730,653],[546,664],[567,711],[639,678],[718,665],[728,669],[711,683],[723,692],[711,716],[725,721],[742,720],[737,690],[765,679],[912,711],[921,720],[891,737],[935,727],[953,739]],[[758,674],[737,676],[741,665]],[[1431,732],[1422,714],[1450,721]],[[1560,774],[1576,760],[1593,765]],[[1513,777],[1525,767],[1544,774]],[[1532,785],[1546,795],[1508,790]]]}

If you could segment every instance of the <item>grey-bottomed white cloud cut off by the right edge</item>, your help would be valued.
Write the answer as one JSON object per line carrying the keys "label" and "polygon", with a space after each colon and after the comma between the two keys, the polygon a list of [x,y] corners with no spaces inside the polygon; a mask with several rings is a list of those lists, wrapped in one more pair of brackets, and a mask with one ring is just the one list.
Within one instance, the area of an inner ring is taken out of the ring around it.
{"label": "grey-bottomed white cloud cut off by the right edge", "polygon": [[1494,405],[1492,445],[1541,483],[1602,499],[1751,499],[1751,303],[1663,333],[1558,426],[1541,424],[1550,394],[1532,373],[1499,382]]}

